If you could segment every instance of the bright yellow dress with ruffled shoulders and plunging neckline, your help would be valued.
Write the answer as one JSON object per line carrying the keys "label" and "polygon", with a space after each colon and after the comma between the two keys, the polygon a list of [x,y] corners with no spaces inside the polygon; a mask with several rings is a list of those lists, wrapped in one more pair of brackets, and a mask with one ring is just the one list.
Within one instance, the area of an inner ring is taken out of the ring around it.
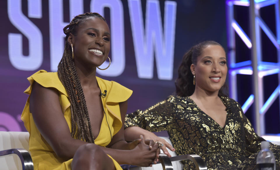
{"label": "bright yellow dress with ruffled shoulders and plunging neckline", "polygon": [[[107,115],[107,121],[111,129],[111,134],[115,135],[122,127],[119,102],[126,101],[131,96],[132,90],[129,90],[114,81],[103,80],[99,77],[96,78],[101,92],[107,90],[106,97],[101,97],[101,100]],[[58,90],[61,109],[71,131],[71,112],[69,107],[70,101],[66,89],[57,76],[57,72],[47,72],[45,70],[40,70],[27,79],[30,82],[30,86],[27,88],[27,90],[24,91],[26,94],[30,95],[32,84],[34,83],[34,81],[36,81],[43,87],[51,87]],[[29,150],[31,152],[31,157],[34,163],[34,169],[71,169],[72,159],[64,162],[59,157],[57,157],[53,149],[37,129],[32,117],[32,113],[29,112],[29,97],[22,112],[21,119],[24,122],[25,128],[30,134]],[[95,144],[104,147],[107,146],[111,142],[110,129],[108,128],[106,117],[104,114],[99,135],[95,139]],[[110,155],[108,156],[111,157]],[[116,169],[122,170],[118,162],[116,162],[112,157],[111,159],[113,160]]]}

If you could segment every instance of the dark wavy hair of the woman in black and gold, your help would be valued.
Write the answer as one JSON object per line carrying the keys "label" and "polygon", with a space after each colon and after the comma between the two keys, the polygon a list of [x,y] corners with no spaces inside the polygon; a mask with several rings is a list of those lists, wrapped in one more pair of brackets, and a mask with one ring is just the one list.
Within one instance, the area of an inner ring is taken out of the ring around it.
{"label": "dark wavy hair of the woman in black and gold", "polygon": [[[176,85],[176,95],[186,97],[193,94],[195,91],[195,85],[193,84],[193,75],[190,70],[190,66],[192,64],[197,64],[197,57],[202,54],[204,48],[208,45],[219,45],[223,48],[222,45],[217,43],[216,41],[203,41],[197,45],[194,45],[188,52],[183,56],[182,63],[178,69],[178,78],[175,81]],[[224,49],[224,48],[223,48]],[[224,49],[225,50],[225,49]],[[218,93],[218,96],[228,96],[227,85],[224,84]]]}

